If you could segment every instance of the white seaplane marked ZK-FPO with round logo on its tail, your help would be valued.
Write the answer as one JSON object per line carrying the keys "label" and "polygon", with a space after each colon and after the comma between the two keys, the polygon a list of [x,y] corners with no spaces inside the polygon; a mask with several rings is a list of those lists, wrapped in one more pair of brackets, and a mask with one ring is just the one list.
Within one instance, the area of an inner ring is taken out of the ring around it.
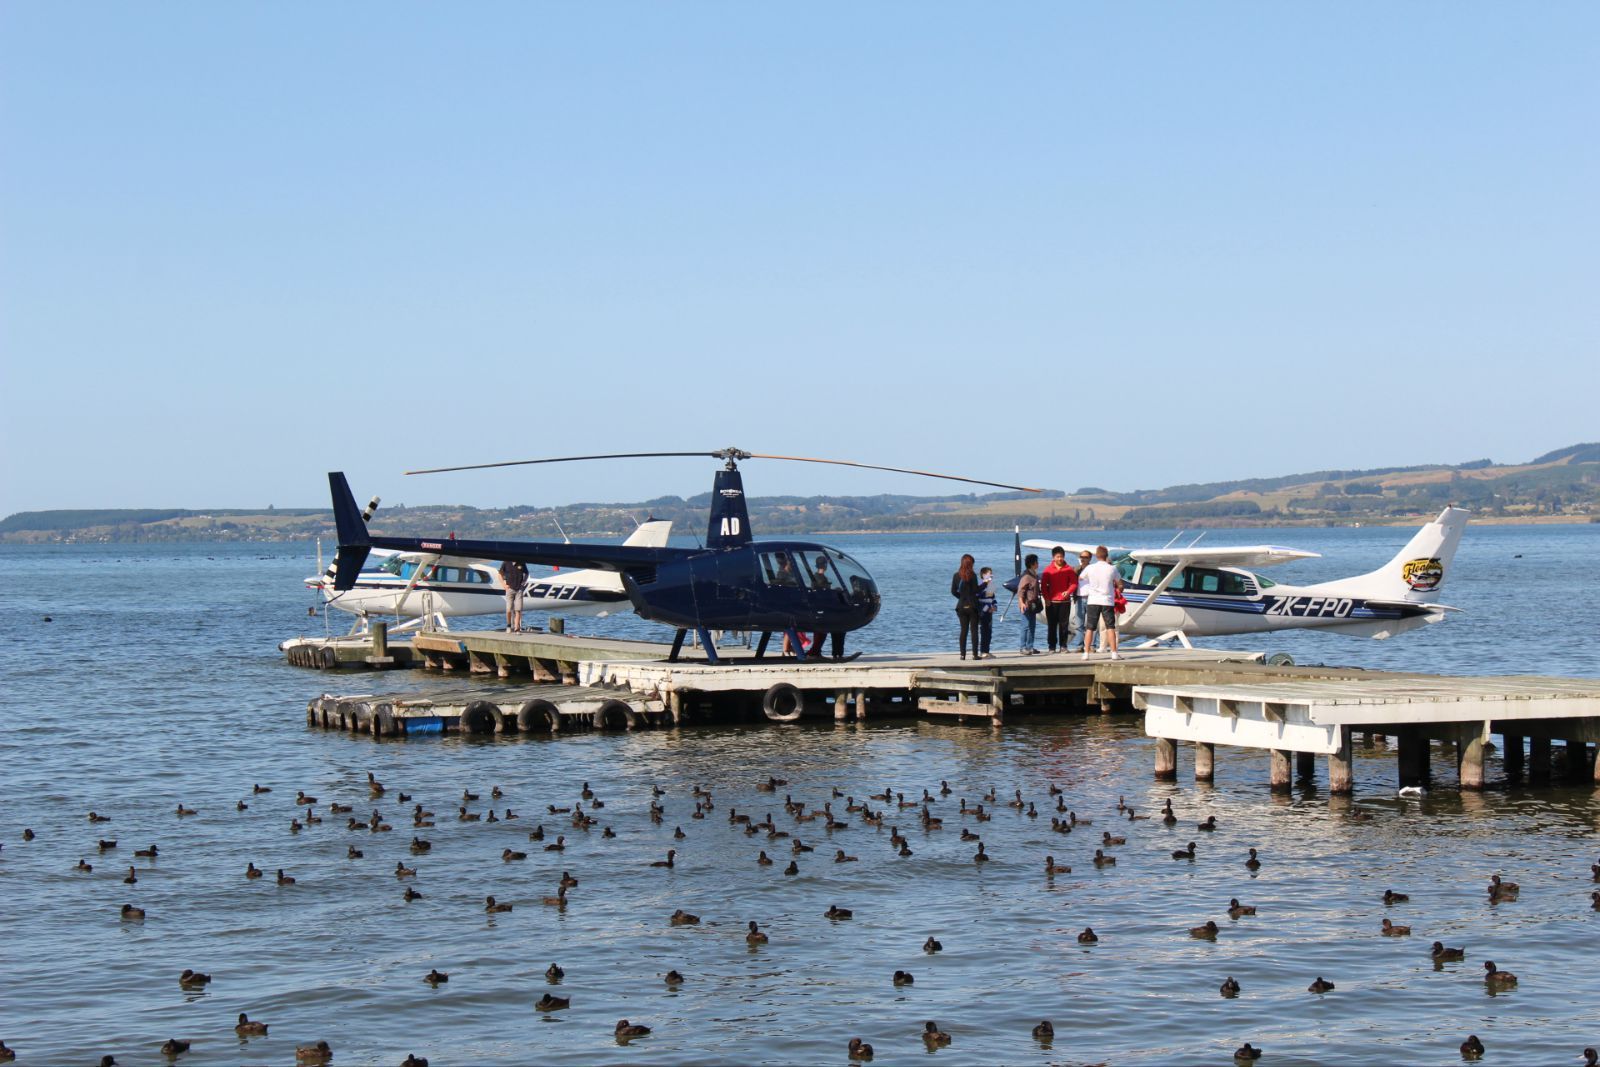
{"label": "white seaplane marked ZK-FPO with round logo on its tail", "polygon": [[[1245,568],[1277,566],[1320,557],[1282,545],[1187,545],[1115,549],[1126,614],[1123,635],[1149,637],[1150,645],[1192,637],[1317,629],[1354,637],[1389,638],[1438,622],[1450,608],[1438,590],[1456,557],[1467,512],[1446,507],[1424,525],[1392,560],[1376,571],[1314,585],[1286,585]],[[1094,545],[1067,541],[1024,541],[1042,555],[1056,545],[1077,557]],[[1048,558],[1048,555],[1045,555]]]}

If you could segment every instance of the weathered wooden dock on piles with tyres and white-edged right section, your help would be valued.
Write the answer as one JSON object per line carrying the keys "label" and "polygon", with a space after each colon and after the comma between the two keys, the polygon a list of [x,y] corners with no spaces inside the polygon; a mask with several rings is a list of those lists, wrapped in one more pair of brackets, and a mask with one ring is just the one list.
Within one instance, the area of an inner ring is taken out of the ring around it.
{"label": "weathered wooden dock on piles with tyres and white-edged right section", "polygon": [[[389,646],[392,651],[394,646]],[[392,659],[352,654],[365,667]],[[1395,742],[1398,782],[1430,781],[1434,742],[1454,745],[1462,789],[1485,787],[1485,753],[1501,737],[1507,777],[1600,784],[1600,680],[1445,677],[1355,667],[1266,664],[1259,653],[1138,649],[963,661],[947,653],[861,656],[845,662],[725,654],[670,662],[669,646],[563,633],[418,633],[410,661],[477,685],[429,694],[325,693],[314,726],[373,736],[563,733],[718,721],[933,717],[1003,726],[1030,713],[1141,712],[1155,739],[1155,776],[1178,774],[1179,742],[1198,781],[1214,777],[1216,745],[1267,753],[1274,790],[1326,760],[1333,795],[1352,790],[1352,749]],[[726,649],[731,651],[731,649]],[[344,661],[341,661],[344,662]],[[323,662],[312,665],[326,665]],[[1560,749],[1552,749],[1560,742]]]}

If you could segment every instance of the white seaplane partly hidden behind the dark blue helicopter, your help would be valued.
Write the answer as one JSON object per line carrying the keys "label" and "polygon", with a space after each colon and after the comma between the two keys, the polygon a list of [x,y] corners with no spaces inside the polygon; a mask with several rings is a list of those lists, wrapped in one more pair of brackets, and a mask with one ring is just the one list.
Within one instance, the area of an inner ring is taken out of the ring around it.
{"label": "white seaplane partly hidden behind the dark blue helicopter", "polygon": [[[366,518],[378,509],[378,498],[368,504]],[[622,542],[626,545],[659,549],[672,536],[672,523],[650,518]],[[565,537],[565,533],[563,533]],[[506,609],[506,581],[499,565],[470,557],[451,555],[448,541],[440,542],[440,552],[387,552],[373,549],[368,565],[355,579],[355,585],[336,590],[334,568],[330,565],[317,577],[307,577],[306,587],[322,593],[330,608],[357,616],[352,633],[381,616],[408,619],[390,627],[390,633],[427,625],[448,630],[446,619],[464,614],[498,614]],[[317,549],[322,569],[322,545]],[[530,576],[525,585],[523,611],[558,611],[605,617],[614,611],[632,611],[622,577],[614,571],[560,571]]]}

